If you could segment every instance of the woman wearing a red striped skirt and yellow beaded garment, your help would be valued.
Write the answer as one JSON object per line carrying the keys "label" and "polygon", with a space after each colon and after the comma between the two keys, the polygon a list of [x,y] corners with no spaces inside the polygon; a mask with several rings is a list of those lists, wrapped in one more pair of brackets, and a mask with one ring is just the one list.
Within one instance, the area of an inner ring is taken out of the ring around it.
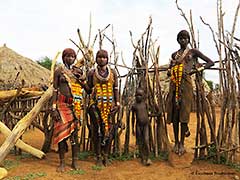
{"label": "woman wearing a red striped skirt and yellow beaded garment", "polygon": [[53,143],[58,144],[60,165],[58,172],[65,170],[64,154],[68,151],[67,139],[70,138],[72,145],[73,169],[77,169],[78,159],[78,130],[81,111],[82,88],[79,78],[82,71],[73,68],[76,53],[73,49],[64,49],[62,53],[63,65],[54,72],[53,80],[53,107],[52,117],[54,119]]}

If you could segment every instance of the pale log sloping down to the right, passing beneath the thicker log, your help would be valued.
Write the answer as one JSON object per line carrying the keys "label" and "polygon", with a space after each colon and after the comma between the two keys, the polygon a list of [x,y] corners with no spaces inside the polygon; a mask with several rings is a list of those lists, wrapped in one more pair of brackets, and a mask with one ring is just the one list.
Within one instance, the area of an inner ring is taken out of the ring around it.
{"label": "pale log sloping down to the right, passing beneath the thicker log", "polygon": [[[0,132],[7,138],[10,134],[11,134],[11,130],[0,121]],[[45,157],[45,153],[24,143],[22,140],[18,140],[16,143],[16,146],[20,149],[22,149],[23,151],[26,151],[28,153],[30,153],[31,155],[42,159],[43,157]]]}

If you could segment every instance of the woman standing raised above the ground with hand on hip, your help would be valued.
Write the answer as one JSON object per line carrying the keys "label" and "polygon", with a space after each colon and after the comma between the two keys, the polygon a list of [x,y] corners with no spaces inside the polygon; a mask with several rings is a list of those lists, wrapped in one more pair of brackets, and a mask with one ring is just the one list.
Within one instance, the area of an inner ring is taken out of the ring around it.
{"label": "woman standing raised above the ground with hand on hip", "polygon": [[[175,145],[173,151],[182,155],[186,152],[184,148],[185,136],[190,135],[188,129],[191,104],[193,101],[193,87],[191,72],[196,70],[197,58],[206,62],[204,68],[214,65],[213,61],[202,54],[197,49],[188,48],[190,35],[186,30],[182,30],[177,35],[177,42],[180,49],[172,54],[168,75],[171,76],[169,94],[167,99],[167,122],[173,123]],[[179,124],[181,126],[179,141]]]}

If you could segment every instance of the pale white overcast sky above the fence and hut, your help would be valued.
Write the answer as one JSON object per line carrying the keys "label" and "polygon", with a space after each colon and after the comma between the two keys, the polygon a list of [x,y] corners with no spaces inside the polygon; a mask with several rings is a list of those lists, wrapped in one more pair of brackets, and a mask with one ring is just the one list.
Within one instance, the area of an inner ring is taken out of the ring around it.
{"label": "pale white overcast sky above the fence and hut", "polygon": [[[231,31],[239,0],[222,0],[225,30]],[[217,0],[178,0],[179,6],[189,17],[192,10],[195,31],[199,32],[199,50],[212,60],[218,60],[217,51],[209,28],[200,16],[217,31]],[[160,64],[167,64],[171,54],[179,49],[177,33],[188,26],[177,9],[175,0],[1,0],[0,46],[6,44],[17,53],[32,60],[47,56],[54,58],[66,47],[77,50],[69,40],[79,42],[77,29],[87,41],[90,14],[92,39],[108,24],[106,34],[111,37],[112,28],[117,51],[123,54],[129,66],[132,63],[133,46],[129,31],[136,42],[146,30],[152,17],[153,39],[160,45]],[[240,37],[240,19],[236,37]],[[98,48],[98,41],[95,49]],[[103,42],[109,50],[109,42]],[[61,58],[59,60],[61,62]],[[121,64],[121,61],[120,61]],[[217,71],[206,71],[206,77],[218,82]]]}

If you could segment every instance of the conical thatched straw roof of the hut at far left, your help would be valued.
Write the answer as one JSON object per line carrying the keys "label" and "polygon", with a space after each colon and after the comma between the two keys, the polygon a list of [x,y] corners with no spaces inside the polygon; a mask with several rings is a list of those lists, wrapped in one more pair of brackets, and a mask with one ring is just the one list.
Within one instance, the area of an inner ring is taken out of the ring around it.
{"label": "conical thatched straw roof of the hut at far left", "polygon": [[47,85],[50,71],[6,45],[0,47],[0,90]]}

